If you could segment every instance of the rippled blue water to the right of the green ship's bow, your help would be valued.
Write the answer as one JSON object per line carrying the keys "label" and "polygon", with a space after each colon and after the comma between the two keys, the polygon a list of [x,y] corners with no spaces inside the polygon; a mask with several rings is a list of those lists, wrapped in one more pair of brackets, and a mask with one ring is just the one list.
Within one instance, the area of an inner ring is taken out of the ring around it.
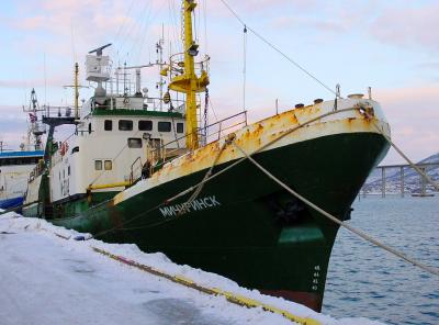
{"label": "rippled blue water to the right of the green ship's bow", "polygon": [[[439,267],[439,197],[361,198],[351,225],[410,257]],[[439,324],[439,278],[340,229],[324,314],[389,324]]]}

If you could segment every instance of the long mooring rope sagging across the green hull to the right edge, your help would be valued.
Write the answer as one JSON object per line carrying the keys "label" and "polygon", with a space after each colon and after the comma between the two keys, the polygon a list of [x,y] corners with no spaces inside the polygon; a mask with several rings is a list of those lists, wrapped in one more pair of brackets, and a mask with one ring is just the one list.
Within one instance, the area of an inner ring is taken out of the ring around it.
{"label": "long mooring rope sagging across the green hull to the right edge", "polygon": [[341,227],[347,228],[348,231],[350,231],[351,233],[360,236],[361,238],[363,238],[364,240],[376,245],[378,247],[387,250],[389,253],[399,257],[401,259],[408,261],[409,264],[419,267],[420,269],[434,274],[434,276],[439,276],[439,269],[438,268],[434,268],[427,265],[424,265],[423,262],[413,259],[410,257],[407,257],[405,254],[396,250],[393,247],[390,247],[376,239],[374,239],[373,237],[369,236],[368,234],[363,233],[360,229],[357,229],[354,227],[352,227],[349,224],[344,223],[342,221],[338,220],[336,216],[331,215],[330,213],[326,212],[325,210],[323,210],[322,208],[317,206],[316,204],[314,204],[313,202],[311,202],[309,200],[307,200],[306,198],[302,197],[301,194],[299,194],[296,191],[294,191],[293,189],[291,189],[289,186],[286,186],[284,182],[282,182],[279,178],[277,178],[275,176],[273,176],[270,171],[268,171],[266,168],[263,168],[258,161],[256,161],[250,155],[248,155],[239,145],[237,145],[235,142],[233,142],[233,145],[247,158],[249,159],[256,167],[258,167],[263,173],[266,173],[270,179],[272,179],[274,182],[277,182],[279,186],[281,186],[283,189],[285,189],[288,192],[290,192],[292,195],[294,195],[295,198],[297,198],[299,200],[301,200],[302,202],[306,203],[307,205],[309,205],[311,208],[313,208],[315,211],[319,212],[320,214],[323,214],[324,216],[326,216],[327,218],[329,218],[330,221],[333,221],[334,223],[338,224]]}

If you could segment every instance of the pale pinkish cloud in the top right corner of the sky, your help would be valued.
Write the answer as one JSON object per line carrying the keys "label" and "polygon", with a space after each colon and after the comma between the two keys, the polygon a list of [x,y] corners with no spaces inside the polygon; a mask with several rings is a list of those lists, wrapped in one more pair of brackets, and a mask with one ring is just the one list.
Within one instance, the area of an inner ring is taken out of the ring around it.
{"label": "pale pinkish cloud in the top right corner of the sky", "polygon": [[436,52],[439,49],[439,3],[385,10],[371,24],[371,34],[383,43]]}

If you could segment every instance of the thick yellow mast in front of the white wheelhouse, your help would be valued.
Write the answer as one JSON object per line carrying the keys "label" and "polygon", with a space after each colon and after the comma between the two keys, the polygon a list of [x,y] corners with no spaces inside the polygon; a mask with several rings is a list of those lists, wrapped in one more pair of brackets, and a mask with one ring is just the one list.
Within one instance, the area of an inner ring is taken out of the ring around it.
{"label": "thick yellow mast in front of the white wheelhouse", "polygon": [[205,91],[209,77],[205,70],[201,76],[195,74],[194,56],[198,55],[198,45],[192,35],[192,12],[196,3],[194,0],[183,0],[183,30],[184,30],[184,72],[171,79],[169,89],[185,93],[185,125],[187,147],[199,147],[198,121],[196,121],[196,92]]}

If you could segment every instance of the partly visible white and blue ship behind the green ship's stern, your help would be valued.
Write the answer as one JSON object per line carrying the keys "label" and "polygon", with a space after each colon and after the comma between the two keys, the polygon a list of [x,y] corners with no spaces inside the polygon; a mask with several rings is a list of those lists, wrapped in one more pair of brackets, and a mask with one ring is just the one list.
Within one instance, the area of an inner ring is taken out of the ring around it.
{"label": "partly visible white and blue ship behind the green ship's stern", "polygon": [[23,204],[27,180],[34,167],[43,158],[45,127],[37,119],[40,111],[36,92],[32,89],[29,107],[23,107],[27,114],[27,134],[19,149],[8,150],[0,142],[0,209],[15,209]]}

